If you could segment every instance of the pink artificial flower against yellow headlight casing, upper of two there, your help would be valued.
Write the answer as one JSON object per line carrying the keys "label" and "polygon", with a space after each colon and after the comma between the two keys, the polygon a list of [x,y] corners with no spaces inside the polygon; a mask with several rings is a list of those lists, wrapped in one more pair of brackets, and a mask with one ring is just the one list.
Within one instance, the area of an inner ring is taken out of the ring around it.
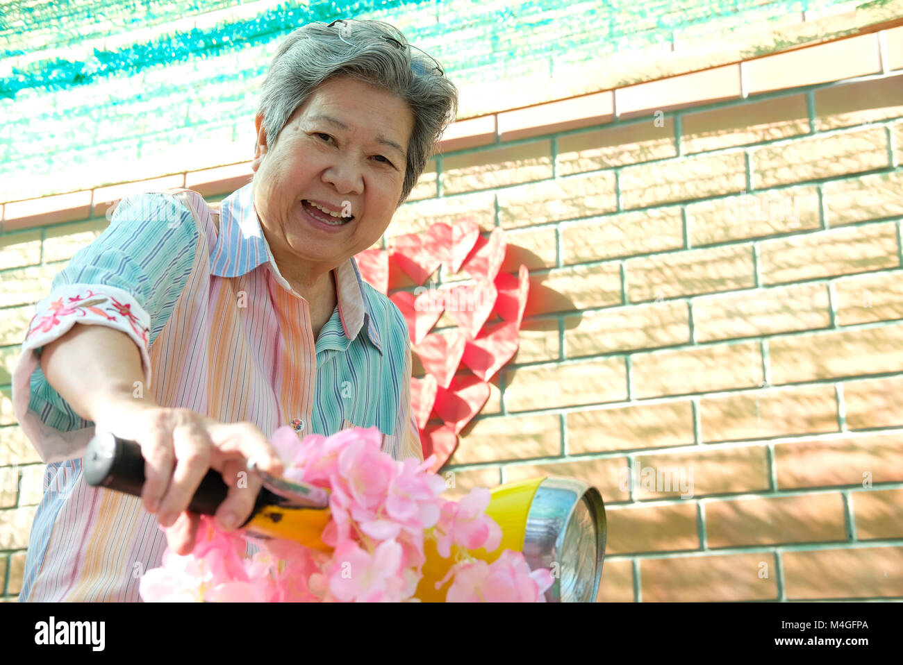
{"label": "pink artificial flower against yellow headlight casing, upper of two there", "polygon": [[433,530],[436,550],[442,557],[452,556],[452,545],[460,545],[466,550],[498,550],[502,531],[495,520],[483,514],[491,498],[485,487],[473,487],[470,494],[457,503],[442,500],[442,514]]}

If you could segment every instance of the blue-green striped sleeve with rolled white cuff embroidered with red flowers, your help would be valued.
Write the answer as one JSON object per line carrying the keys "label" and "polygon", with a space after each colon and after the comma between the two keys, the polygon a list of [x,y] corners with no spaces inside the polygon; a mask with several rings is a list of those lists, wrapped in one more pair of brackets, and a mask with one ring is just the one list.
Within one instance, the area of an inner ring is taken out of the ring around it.
{"label": "blue-green striped sleeve with rolled white cuff embroidered with red flowers", "polygon": [[47,383],[42,346],[77,323],[121,330],[138,347],[144,389],[150,388],[149,348],[188,281],[198,238],[182,197],[135,195],[119,202],[104,233],[53,278],[50,294],[36,306],[13,374],[16,419],[44,462],[81,457],[93,427]]}

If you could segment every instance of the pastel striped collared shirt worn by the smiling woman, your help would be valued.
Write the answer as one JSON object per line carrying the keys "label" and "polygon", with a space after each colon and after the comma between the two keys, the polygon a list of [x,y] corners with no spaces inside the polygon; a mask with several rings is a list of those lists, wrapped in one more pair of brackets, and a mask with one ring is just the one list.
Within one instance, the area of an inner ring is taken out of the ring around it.
{"label": "pastel striped collared shirt worn by the smiling woman", "polygon": [[162,406],[251,421],[267,437],[292,422],[302,435],[376,426],[393,457],[423,459],[405,319],[353,259],[334,277],[338,304],[314,339],[309,305],[266,243],[251,184],[219,214],[187,189],[120,201],[38,303],[14,370],[16,418],[47,464],[20,600],[138,600],[142,572],[160,566],[166,547],[140,498],[82,478],[94,425],[46,382],[38,355],[76,323],[131,337],[144,390]]}

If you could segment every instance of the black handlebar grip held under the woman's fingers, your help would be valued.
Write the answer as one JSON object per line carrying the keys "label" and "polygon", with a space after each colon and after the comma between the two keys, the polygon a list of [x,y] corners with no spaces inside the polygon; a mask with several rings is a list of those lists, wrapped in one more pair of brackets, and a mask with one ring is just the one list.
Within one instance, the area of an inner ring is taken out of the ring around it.
{"label": "black handlebar grip held under the woman's fingers", "polygon": [[[141,455],[141,446],[135,441],[120,439],[110,432],[96,435],[88,443],[81,471],[88,485],[141,496],[144,487],[144,457]],[[188,510],[202,515],[216,514],[227,493],[228,487],[223,476],[211,468],[191,497]],[[258,496],[257,503],[262,498],[264,497]],[[251,514],[253,516],[254,513]]]}

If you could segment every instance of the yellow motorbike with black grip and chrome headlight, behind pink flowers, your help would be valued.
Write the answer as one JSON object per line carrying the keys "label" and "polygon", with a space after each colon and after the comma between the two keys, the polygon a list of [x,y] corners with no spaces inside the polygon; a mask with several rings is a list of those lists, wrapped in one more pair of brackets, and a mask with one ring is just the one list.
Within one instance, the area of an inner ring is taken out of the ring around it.
{"label": "yellow motorbike with black grip and chrome headlight, behind pink flowers", "polygon": [[[141,447],[113,434],[91,439],[82,463],[88,485],[140,496],[144,486]],[[271,476],[248,463],[263,488],[251,516],[242,525],[256,538],[282,538],[330,552],[320,535],[330,520],[329,492]],[[219,471],[210,469],[191,499],[189,510],[213,515],[226,498],[227,486]],[[498,485],[489,490],[486,513],[502,531],[498,550],[468,550],[474,559],[491,563],[503,550],[522,552],[531,569],[549,568],[554,584],[545,592],[549,602],[591,603],[599,591],[605,557],[605,505],[598,489],[573,478],[543,476]],[[454,563],[442,558],[432,540],[424,543],[424,574],[414,597],[422,602],[443,602],[451,580],[440,588]],[[460,554],[460,552],[459,552]]]}

